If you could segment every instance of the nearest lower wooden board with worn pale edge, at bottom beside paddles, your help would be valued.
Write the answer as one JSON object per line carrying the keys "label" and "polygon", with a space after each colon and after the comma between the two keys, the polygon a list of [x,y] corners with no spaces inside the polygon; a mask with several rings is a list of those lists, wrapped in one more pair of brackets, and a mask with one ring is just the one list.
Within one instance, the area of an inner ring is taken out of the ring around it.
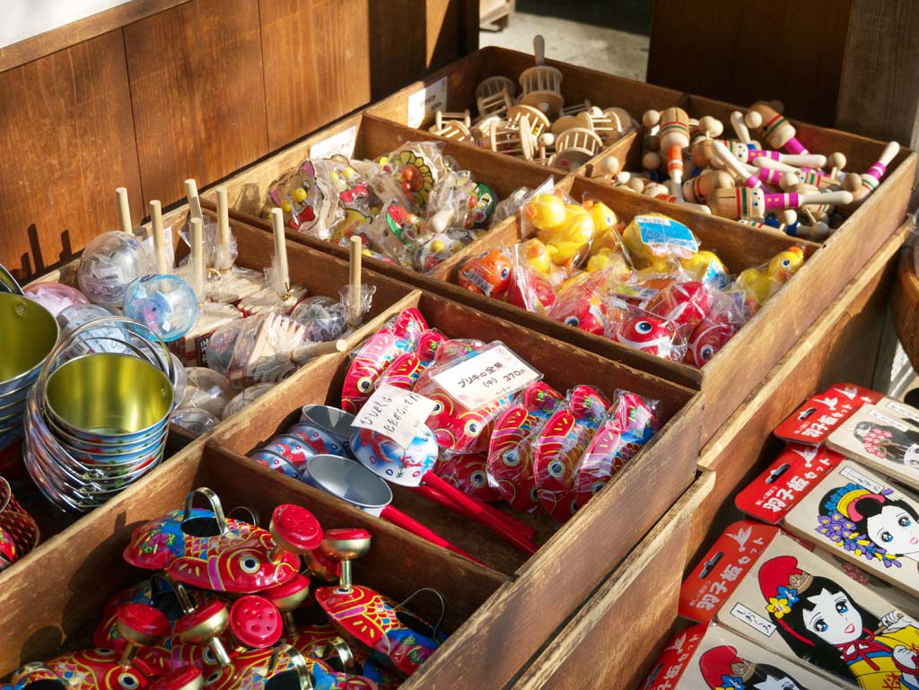
{"label": "nearest lower wooden board with worn pale edge, at bottom beside paddles", "polygon": [[630,688],[641,683],[673,625],[683,579],[681,560],[686,557],[686,520],[714,484],[713,472],[698,477],[511,690]]}

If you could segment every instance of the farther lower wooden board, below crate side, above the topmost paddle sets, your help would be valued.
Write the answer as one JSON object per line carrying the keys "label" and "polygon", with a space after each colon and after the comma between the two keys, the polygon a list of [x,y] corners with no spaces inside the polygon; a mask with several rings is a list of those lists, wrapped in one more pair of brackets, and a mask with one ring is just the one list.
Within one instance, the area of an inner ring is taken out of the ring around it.
{"label": "farther lower wooden board, below crate side, above the topmost paddle sets", "polygon": [[722,505],[730,512],[732,506],[725,502],[775,458],[780,444],[773,439],[772,430],[779,422],[811,393],[832,383],[870,385],[894,259],[907,232],[903,226],[881,247],[703,447],[699,467],[714,471],[717,482],[693,517],[688,551],[691,560],[707,546],[709,534],[715,536],[709,530]]}

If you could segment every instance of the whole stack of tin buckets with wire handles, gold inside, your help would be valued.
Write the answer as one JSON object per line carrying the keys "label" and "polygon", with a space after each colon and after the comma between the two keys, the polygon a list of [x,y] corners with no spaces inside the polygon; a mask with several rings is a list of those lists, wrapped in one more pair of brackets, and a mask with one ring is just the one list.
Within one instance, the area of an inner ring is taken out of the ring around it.
{"label": "whole stack of tin buckets with wire handles, gold inside", "polygon": [[[29,393],[26,467],[64,511],[105,503],[164,457],[176,370],[162,341],[143,330],[123,317],[80,326],[51,353]],[[113,333],[129,354],[73,356]]]}

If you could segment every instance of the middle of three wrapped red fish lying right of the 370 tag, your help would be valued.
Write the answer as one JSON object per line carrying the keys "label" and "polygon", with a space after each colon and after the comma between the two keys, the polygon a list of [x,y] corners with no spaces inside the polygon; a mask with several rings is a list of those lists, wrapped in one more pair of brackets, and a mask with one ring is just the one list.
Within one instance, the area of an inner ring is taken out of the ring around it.
{"label": "middle of three wrapped red fish lying right of the 370 tag", "polygon": [[607,414],[609,401],[591,386],[576,386],[533,442],[533,477],[539,504],[560,523],[577,510],[577,461]]}

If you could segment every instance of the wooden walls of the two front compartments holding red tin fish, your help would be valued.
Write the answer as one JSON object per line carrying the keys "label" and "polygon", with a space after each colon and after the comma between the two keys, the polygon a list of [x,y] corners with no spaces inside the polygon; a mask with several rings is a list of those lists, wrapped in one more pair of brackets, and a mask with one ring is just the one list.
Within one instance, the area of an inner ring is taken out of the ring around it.
{"label": "wooden walls of the two front compartments holding red tin fish", "polygon": [[[516,515],[538,530],[541,546],[529,560],[478,526],[444,515],[393,487],[397,505],[490,566],[484,567],[431,547],[237,452],[258,447],[287,428],[301,405],[337,402],[348,357],[317,358],[285,381],[283,390],[278,387],[257,399],[241,415],[0,574],[7,603],[0,624],[15,629],[0,650],[0,673],[20,661],[51,654],[62,639],[78,644],[106,597],[130,582],[129,569],[118,561],[130,529],[179,504],[194,485],[205,484],[219,492],[226,505],[253,505],[261,515],[268,515],[273,503],[288,501],[315,511],[323,525],[369,528],[380,536],[375,542],[379,551],[372,560],[357,564],[357,577],[395,598],[425,585],[444,589],[448,628],[456,629],[405,687],[448,688],[459,682],[499,688],[511,680],[591,594],[603,574],[626,557],[686,490],[696,471],[701,402],[692,390],[437,296],[415,290],[392,311],[408,306],[417,306],[432,326],[451,337],[502,340],[560,390],[590,382],[607,395],[624,388],[658,399],[664,427],[617,481],[562,528],[546,516]],[[97,577],[101,571],[107,573],[105,578]],[[89,583],[95,589],[87,590]],[[36,597],[42,597],[40,606]],[[23,624],[26,611],[32,613]],[[494,656],[498,649],[502,653]]]}

